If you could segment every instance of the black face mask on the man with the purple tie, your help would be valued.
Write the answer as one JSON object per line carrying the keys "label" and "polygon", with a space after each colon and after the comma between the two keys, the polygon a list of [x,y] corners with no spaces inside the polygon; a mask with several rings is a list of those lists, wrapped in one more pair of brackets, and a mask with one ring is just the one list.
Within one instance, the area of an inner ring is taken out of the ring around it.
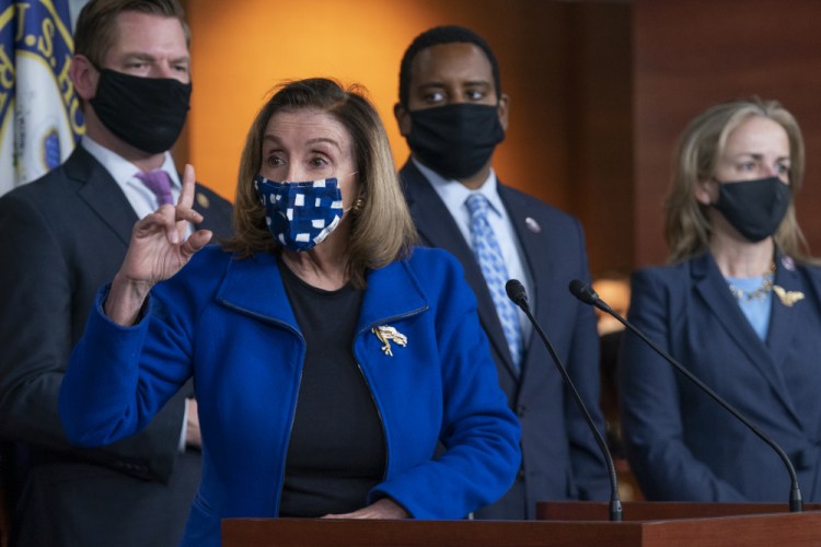
{"label": "black face mask on the man with the purple tie", "polygon": [[101,69],[90,101],[100,121],[128,144],[150,154],[169,150],[185,125],[190,83]]}

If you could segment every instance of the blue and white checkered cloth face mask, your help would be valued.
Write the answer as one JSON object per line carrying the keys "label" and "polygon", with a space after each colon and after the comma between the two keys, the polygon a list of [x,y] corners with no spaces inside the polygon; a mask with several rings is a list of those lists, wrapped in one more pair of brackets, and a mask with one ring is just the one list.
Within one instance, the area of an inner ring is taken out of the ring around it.
{"label": "blue and white checkered cloth face mask", "polygon": [[257,175],[254,188],[265,207],[268,230],[286,248],[313,248],[339,225],[344,214],[336,178],[277,183]]}

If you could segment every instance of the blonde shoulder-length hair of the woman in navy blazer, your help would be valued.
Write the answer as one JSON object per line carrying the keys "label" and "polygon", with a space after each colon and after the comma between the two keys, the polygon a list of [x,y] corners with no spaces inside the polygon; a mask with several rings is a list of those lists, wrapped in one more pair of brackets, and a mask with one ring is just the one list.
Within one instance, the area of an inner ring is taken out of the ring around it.
{"label": "blonde shoulder-length hair of the woman in navy blazer", "polygon": [[695,198],[695,187],[715,172],[730,133],[753,117],[780,125],[789,139],[789,187],[791,200],[773,238],[785,254],[814,263],[798,225],[795,198],[803,182],[803,138],[795,117],[777,101],[730,101],[707,108],[693,119],[679,139],[673,182],[664,201],[664,238],[669,260],[678,263],[704,253],[713,234],[707,206]]}

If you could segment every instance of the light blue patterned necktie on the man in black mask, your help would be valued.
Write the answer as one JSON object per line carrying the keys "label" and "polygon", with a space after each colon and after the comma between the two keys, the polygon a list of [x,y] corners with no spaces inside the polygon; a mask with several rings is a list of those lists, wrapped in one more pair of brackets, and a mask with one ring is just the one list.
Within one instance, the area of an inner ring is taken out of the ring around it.
{"label": "light blue patterned necktie on the man in black mask", "polygon": [[485,282],[487,282],[487,288],[490,290],[490,295],[494,299],[496,313],[499,315],[501,328],[505,330],[505,338],[510,348],[513,365],[519,370],[522,356],[522,331],[516,305],[510,301],[505,291],[505,283],[508,282],[508,271],[505,267],[505,258],[501,255],[499,243],[496,241],[496,236],[487,221],[489,203],[487,198],[482,194],[472,194],[465,200],[465,206],[471,212],[473,254],[476,255],[476,260],[482,268]]}

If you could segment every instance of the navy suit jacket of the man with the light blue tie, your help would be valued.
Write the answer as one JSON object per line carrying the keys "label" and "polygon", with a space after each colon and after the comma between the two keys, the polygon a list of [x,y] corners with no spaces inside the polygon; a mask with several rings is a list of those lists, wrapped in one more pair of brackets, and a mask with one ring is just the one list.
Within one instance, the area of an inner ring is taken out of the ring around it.
{"label": "navy suit jacket of the man with the light blue tie", "polygon": [[[604,459],[539,336],[525,348],[521,375],[512,368],[505,334],[470,245],[428,179],[408,161],[400,176],[421,243],[452,253],[478,300],[499,383],[522,426],[522,467],[513,488],[476,513],[482,519],[533,519],[543,500],[606,500]],[[568,291],[573,279],[589,281],[585,237],[573,217],[499,184],[533,280],[529,301],[603,431],[599,408],[599,338],[592,309]]]}

